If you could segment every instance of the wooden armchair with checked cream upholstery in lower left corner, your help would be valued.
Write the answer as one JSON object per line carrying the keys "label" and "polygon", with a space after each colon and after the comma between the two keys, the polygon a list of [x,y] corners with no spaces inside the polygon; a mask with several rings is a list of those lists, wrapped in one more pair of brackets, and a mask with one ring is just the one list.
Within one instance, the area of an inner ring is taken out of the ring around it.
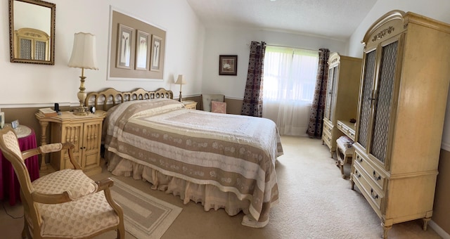
{"label": "wooden armchair with checked cream upholstery in lower left corner", "polygon": [[[21,152],[11,129],[0,130],[0,150],[13,165],[20,183],[25,224],[22,238],[91,238],[117,230],[124,238],[123,211],[113,200],[113,180],[93,181],[75,161],[72,143],[52,143]],[[63,169],[30,181],[25,160],[33,155],[67,150],[74,169]]]}

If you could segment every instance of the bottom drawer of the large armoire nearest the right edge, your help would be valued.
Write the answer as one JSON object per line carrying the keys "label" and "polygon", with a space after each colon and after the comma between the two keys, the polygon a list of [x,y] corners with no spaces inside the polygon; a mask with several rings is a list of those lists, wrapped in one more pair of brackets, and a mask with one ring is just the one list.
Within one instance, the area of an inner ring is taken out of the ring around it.
{"label": "bottom drawer of the large armoire nearest the right edge", "polygon": [[384,198],[383,193],[381,193],[378,187],[373,186],[369,181],[368,175],[364,173],[364,169],[359,167],[359,164],[354,164],[352,167],[352,180],[356,186],[361,190],[364,197],[371,203],[377,213],[381,212],[381,202]]}

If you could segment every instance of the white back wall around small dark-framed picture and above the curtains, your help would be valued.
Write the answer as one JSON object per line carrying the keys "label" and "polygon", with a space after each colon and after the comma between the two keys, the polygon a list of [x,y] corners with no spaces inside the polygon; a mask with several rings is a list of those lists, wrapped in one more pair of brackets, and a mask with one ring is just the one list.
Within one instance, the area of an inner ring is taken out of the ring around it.
{"label": "white back wall around small dark-framed picture and above the curtains", "polygon": [[[207,29],[201,92],[222,93],[227,98],[243,99],[250,56],[250,42],[302,49],[321,48],[347,53],[347,43],[319,37],[249,29]],[[238,55],[238,75],[219,75],[219,55]]]}

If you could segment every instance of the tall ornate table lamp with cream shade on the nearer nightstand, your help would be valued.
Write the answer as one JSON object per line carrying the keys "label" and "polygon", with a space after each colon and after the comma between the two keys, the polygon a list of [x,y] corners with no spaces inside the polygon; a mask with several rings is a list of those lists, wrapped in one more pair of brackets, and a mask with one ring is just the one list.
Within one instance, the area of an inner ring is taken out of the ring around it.
{"label": "tall ornate table lamp with cream shade on the nearer nightstand", "polygon": [[79,107],[74,110],[74,115],[88,115],[88,110],[84,108],[84,101],[86,100],[86,92],[84,90],[84,69],[98,70],[96,58],[96,36],[90,33],[78,32],[75,33],[73,41],[72,56],[68,63],[69,67],[82,68],[82,75],[80,78],[79,92],[77,97],[79,100]]}

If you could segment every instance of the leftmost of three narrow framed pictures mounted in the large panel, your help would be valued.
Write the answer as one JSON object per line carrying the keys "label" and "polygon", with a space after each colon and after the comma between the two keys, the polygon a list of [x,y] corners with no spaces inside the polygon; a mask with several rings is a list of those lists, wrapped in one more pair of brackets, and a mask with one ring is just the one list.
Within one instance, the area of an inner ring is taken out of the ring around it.
{"label": "leftmost of three narrow framed pictures mounted in the large panel", "polygon": [[119,24],[117,31],[117,68],[131,69],[133,28]]}

